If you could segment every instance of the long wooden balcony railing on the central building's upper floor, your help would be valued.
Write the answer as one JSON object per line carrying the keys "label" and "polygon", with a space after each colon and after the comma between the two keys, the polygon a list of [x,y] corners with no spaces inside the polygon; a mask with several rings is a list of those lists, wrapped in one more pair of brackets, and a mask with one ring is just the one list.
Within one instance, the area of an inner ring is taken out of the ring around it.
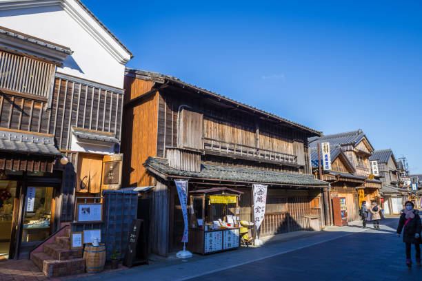
{"label": "long wooden balcony railing on the central building's upper floor", "polygon": [[239,143],[228,143],[225,141],[214,140],[212,138],[203,138],[203,149],[224,154],[272,160],[280,163],[297,164],[296,155],[274,152],[268,149],[241,145]]}

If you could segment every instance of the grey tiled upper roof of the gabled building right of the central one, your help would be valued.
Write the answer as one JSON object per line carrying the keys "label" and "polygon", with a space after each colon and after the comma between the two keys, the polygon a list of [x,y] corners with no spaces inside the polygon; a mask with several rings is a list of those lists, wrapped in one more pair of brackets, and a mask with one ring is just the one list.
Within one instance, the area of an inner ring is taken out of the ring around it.
{"label": "grey tiled upper roof of the gabled building right of the central one", "polygon": [[[362,129],[356,131],[344,132],[340,134],[330,134],[326,136],[321,136],[319,138],[308,138],[310,142],[310,147],[316,148],[317,143],[330,143],[330,147],[339,147],[341,145],[357,145],[365,138]],[[368,138],[367,138],[368,139]],[[369,143],[369,141],[368,141]],[[371,145],[371,144],[370,144]],[[371,145],[372,147],[372,145]],[[373,149],[373,147],[372,147]]]}

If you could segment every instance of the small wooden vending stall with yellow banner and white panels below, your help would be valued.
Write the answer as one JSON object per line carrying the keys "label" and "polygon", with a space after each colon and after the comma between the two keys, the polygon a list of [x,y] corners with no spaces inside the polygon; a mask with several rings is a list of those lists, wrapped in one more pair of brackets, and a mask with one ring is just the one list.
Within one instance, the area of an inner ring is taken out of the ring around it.
{"label": "small wooden vending stall with yellow banner and white panels below", "polygon": [[203,255],[240,246],[239,198],[227,187],[190,191],[188,249]]}

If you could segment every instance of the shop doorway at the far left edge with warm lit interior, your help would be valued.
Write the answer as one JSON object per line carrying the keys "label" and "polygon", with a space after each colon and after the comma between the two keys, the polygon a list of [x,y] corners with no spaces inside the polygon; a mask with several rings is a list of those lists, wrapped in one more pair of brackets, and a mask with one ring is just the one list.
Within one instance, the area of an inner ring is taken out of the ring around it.
{"label": "shop doorway at the far left edge with warm lit interior", "polygon": [[0,260],[9,258],[17,182],[0,180]]}

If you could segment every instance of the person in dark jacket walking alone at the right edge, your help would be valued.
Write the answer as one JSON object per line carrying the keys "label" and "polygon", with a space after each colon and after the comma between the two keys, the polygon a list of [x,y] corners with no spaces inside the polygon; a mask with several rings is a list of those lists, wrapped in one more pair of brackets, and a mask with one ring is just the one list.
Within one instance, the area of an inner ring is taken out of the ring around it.
{"label": "person in dark jacket walking alone at the right edge", "polygon": [[405,209],[401,210],[399,220],[399,227],[397,233],[400,237],[401,230],[403,230],[403,242],[406,244],[406,264],[412,267],[411,249],[414,244],[416,250],[416,264],[421,267],[421,217],[419,211],[414,209],[414,204],[411,201],[405,202]]}

